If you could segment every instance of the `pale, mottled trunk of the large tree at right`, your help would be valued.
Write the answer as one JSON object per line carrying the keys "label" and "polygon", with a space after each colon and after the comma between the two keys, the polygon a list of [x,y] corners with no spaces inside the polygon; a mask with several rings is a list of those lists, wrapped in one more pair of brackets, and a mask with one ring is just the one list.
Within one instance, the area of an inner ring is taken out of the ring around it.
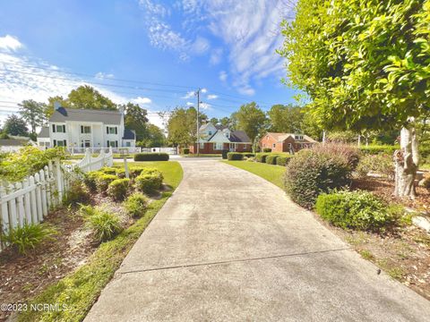
{"label": "pale, mottled trunk of the large tree at right", "polygon": [[415,178],[419,162],[418,140],[413,126],[400,131],[400,149],[394,152],[396,197],[415,198]]}

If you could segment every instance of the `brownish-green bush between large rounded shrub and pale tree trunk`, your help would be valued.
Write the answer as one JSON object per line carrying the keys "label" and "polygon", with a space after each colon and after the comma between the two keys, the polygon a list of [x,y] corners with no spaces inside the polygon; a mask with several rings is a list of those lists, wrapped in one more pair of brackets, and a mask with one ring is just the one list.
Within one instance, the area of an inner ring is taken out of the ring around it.
{"label": "brownish-green bush between large rounded shrub and pale tree trunk", "polygon": [[385,154],[364,155],[357,165],[356,174],[360,178],[365,178],[369,172],[382,174],[389,179],[393,179],[394,164],[392,157]]}

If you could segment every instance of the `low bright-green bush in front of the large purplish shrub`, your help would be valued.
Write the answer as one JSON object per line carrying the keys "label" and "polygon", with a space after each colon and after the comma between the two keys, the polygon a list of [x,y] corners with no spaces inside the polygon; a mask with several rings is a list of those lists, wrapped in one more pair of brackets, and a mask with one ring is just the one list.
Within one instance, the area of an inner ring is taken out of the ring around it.
{"label": "low bright-green bush in front of the large purplish shrub", "polygon": [[367,191],[323,193],[315,208],[324,220],[344,229],[378,231],[394,221],[391,209]]}

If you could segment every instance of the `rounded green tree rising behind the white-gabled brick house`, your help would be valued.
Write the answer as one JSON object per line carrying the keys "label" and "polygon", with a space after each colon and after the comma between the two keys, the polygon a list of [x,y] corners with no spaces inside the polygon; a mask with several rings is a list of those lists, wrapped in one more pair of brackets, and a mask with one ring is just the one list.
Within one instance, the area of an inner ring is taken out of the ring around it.
{"label": "rounded green tree rising behind the white-gabled brick house", "polygon": [[245,131],[254,142],[256,136],[262,131],[266,121],[266,114],[260,106],[251,102],[239,107],[239,110],[231,115],[231,119],[237,120],[237,129]]}

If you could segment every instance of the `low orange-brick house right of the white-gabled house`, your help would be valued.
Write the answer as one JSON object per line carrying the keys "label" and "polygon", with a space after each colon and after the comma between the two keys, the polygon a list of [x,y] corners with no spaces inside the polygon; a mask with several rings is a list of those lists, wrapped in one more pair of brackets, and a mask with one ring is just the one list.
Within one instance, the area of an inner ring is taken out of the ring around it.
{"label": "low orange-brick house right of the white-gabled house", "polygon": [[316,140],[304,134],[267,132],[260,140],[260,149],[271,148],[272,152],[297,152],[311,148]]}

